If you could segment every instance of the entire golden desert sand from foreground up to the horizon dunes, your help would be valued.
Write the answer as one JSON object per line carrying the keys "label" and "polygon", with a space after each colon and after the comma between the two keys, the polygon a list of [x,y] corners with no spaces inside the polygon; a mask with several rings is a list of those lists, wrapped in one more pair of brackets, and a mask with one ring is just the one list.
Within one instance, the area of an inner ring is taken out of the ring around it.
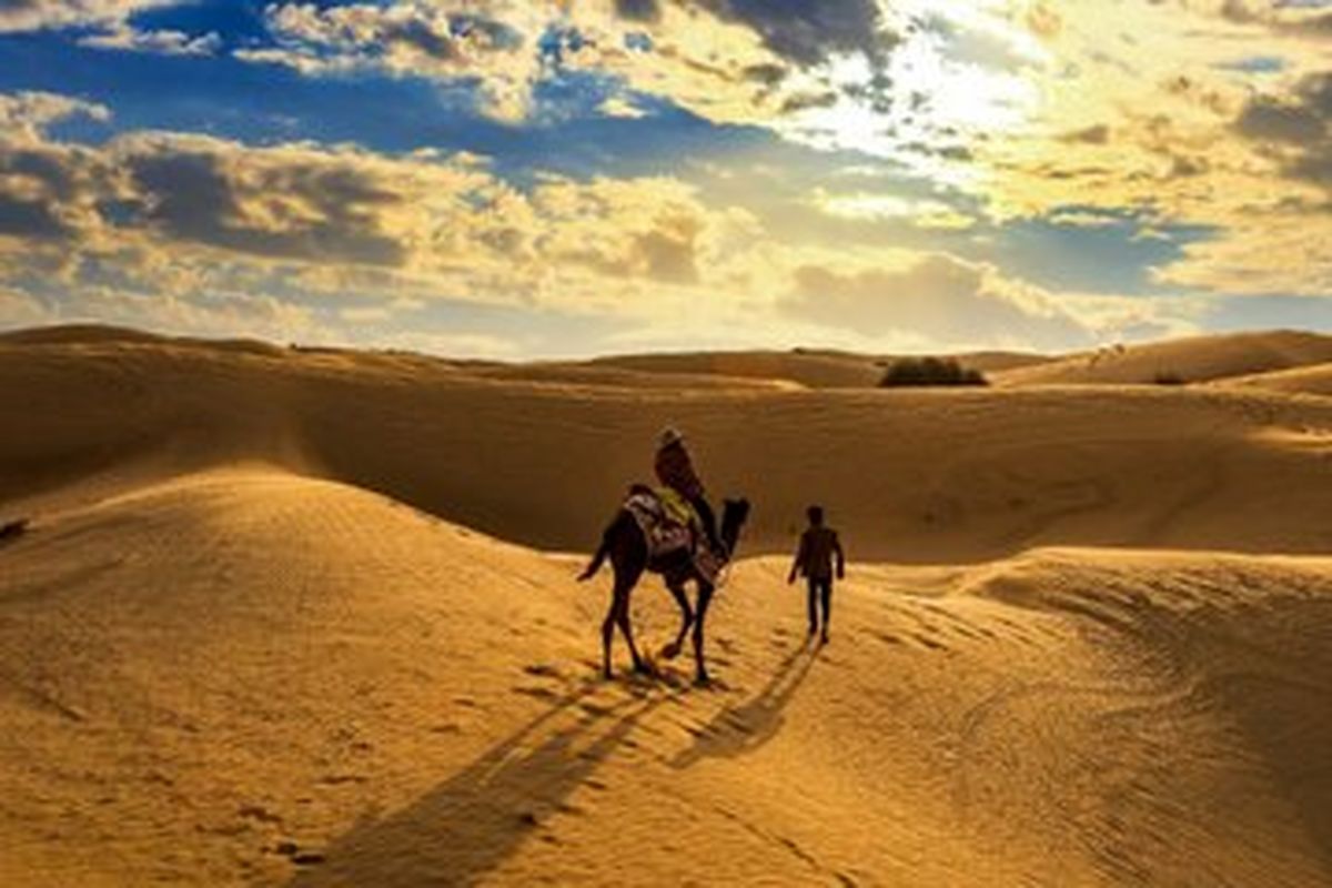
{"label": "entire golden desert sand from foreground up to the horizon dunes", "polygon": [[[0,337],[0,883],[1332,884],[1332,339],[1140,351]],[[755,507],[710,687],[602,680],[574,582],[666,422]]]}

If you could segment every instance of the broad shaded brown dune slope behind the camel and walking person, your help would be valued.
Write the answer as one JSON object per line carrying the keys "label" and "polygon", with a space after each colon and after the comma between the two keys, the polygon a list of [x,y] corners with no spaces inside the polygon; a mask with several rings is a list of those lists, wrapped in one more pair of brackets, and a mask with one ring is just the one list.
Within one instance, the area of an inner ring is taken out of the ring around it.
{"label": "broad shaded brown dune slope behind the camel and walking person", "polygon": [[258,459],[585,551],[673,422],[714,495],[754,501],[750,551],[786,551],[811,499],[862,559],[1332,550],[1332,403],[1263,391],[667,391],[181,343],[0,346],[0,410],[24,418],[0,438],[0,501],[39,497],[15,509],[77,479]]}

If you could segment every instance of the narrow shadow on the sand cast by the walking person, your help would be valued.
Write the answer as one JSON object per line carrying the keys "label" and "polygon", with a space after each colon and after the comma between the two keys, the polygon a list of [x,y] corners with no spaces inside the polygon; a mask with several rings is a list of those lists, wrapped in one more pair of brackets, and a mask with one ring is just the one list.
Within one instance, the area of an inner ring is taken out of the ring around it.
{"label": "narrow shadow on the sand cast by the walking person", "polygon": [[671,759],[670,766],[689,768],[703,759],[749,755],[775,738],[786,720],[783,710],[810,674],[815,659],[817,648],[793,651],[757,696],[714,715],[698,730],[694,744]]}

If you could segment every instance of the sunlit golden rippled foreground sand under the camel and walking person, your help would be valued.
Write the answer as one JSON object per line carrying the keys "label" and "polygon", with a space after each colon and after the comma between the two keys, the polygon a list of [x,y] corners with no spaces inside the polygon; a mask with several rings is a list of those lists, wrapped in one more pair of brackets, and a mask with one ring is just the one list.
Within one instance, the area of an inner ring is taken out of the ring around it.
{"label": "sunlit golden rippled foreground sand under the camel and walking person", "polygon": [[818,655],[785,560],[746,560],[699,691],[594,679],[606,578],[282,473],[0,556],[7,885],[1329,873],[1328,559],[864,568]]}

